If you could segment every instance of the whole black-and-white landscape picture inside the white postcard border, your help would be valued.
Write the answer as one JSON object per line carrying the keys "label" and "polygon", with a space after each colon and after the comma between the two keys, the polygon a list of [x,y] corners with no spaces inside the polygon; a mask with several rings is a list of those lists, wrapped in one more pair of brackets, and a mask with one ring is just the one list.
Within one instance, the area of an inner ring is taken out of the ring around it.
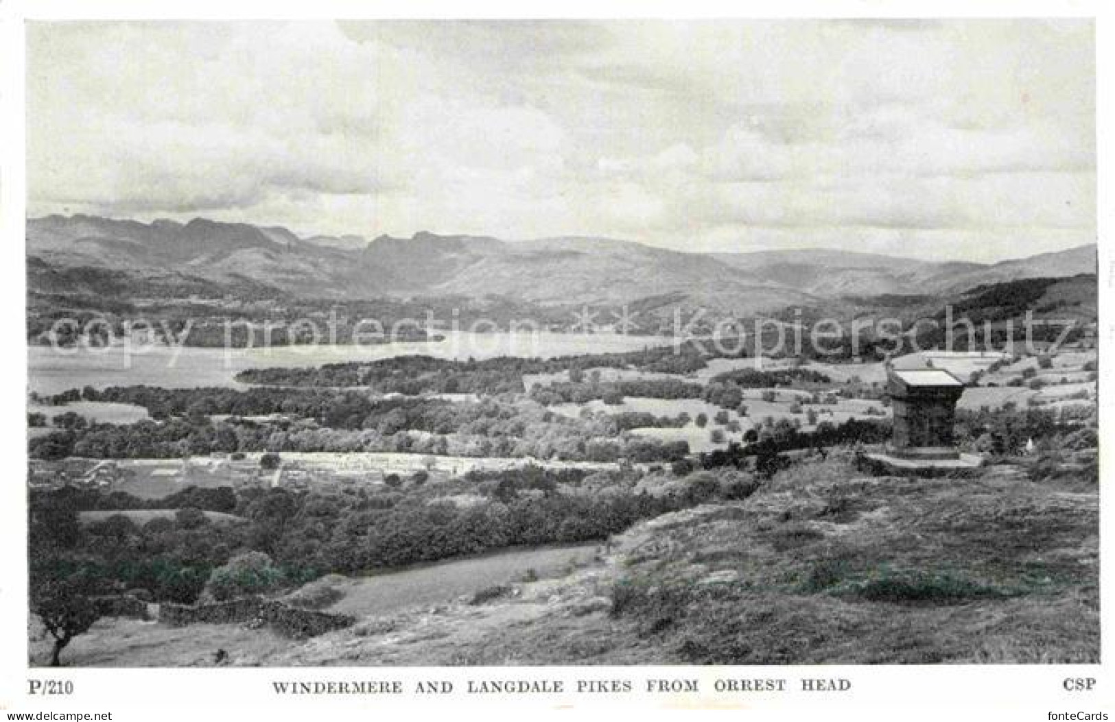
{"label": "whole black-and-white landscape picture inside the white postcard border", "polygon": [[21,32],[32,676],[1095,675],[1093,18]]}

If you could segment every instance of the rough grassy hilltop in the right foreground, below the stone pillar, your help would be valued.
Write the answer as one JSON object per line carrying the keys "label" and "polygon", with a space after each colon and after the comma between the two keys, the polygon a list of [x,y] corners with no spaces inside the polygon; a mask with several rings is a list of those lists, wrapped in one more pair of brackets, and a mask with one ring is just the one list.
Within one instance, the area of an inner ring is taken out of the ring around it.
{"label": "rough grassy hilltop in the right foreground, below the stone pillar", "polygon": [[833,458],[629,534],[617,603],[690,663],[1095,662],[1097,514],[1079,480],[865,478]]}

